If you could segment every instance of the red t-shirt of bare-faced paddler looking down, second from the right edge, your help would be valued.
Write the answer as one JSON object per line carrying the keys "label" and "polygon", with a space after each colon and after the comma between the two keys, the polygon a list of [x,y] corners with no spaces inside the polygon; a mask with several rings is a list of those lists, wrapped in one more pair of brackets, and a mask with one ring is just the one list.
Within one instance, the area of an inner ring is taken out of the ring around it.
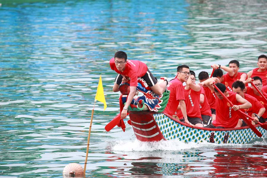
{"label": "red t-shirt of bare-faced paddler looking down, second from the right edge", "polygon": [[[255,97],[245,94],[245,99],[252,104],[251,108],[248,109],[241,109],[241,111],[245,112],[247,115],[252,116],[252,113],[258,114],[260,108],[264,108],[262,104],[260,104],[260,101],[258,101]],[[239,105],[241,103],[238,103]]]}

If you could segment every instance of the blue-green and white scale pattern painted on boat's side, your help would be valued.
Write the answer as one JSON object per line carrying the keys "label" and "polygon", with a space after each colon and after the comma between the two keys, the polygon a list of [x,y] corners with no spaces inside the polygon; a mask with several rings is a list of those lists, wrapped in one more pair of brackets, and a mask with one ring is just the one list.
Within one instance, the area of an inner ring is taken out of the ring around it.
{"label": "blue-green and white scale pattern painted on boat's side", "polygon": [[[153,116],[166,140],[179,139],[182,142],[210,142],[209,139],[212,132],[214,132],[214,143],[217,144],[223,143],[226,133],[228,133],[227,143],[244,144],[258,138],[250,128],[231,131],[206,131],[181,125],[163,113],[154,114]],[[257,129],[264,138],[265,129],[261,127],[257,127]]]}

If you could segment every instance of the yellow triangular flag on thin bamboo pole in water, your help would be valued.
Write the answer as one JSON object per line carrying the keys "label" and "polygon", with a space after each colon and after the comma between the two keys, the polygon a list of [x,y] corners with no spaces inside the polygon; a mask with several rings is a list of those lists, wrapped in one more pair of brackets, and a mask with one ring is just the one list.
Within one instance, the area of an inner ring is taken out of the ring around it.
{"label": "yellow triangular flag on thin bamboo pole in water", "polygon": [[100,101],[104,104],[104,111],[105,111],[105,109],[107,108],[107,104],[106,104],[106,100],[105,100],[105,96],[104,96],[104,89],[103,89],[103,85],[102,85],[101,75],[99,77],[99,82],[98,82],[98,86],[97,86],[97,90],[96,90],[95,103],[94,103],[94,107],[93,107],[92,114],[91,114],[91,121],[90,121],[90,127],[89,127],[89,132],[88,132],[88,139],[87,139],[86,157],[85,157],[85,163],[84,163],[84,169],[83,169],[83,176],[84,177],[85,177],[86,164],[87,164],[87,159],[88,159],[90,134],[91,134],[91,128],[92,128],[92,123],[93,123],[93,115],[94,115],[94,109],[95,109],[96,101]]}

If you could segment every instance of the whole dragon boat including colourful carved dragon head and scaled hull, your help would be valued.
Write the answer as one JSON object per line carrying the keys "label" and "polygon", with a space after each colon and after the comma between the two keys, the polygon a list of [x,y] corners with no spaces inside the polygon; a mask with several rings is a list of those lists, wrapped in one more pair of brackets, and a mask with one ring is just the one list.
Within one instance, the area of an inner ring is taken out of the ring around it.
{"label": "whole dragon boat including colourful carved dragon head and scaled hull", "polygon": [[[177,139],[182,142],[245,144],[260,138],[259,134],[252,131],[249,126],[224,129],[190,126],[163,112],[168,103],[170,91],[166,90],[163,95],[158,96],[141,78],[138,80],[137,90],[144,95],[133,99],[128,107],[130,117],[128,123],[132,125],[136,138],[142,142]],[[121,84],[120,91],[119,101],[122,110],[129,93],[129,84]],[[125,124],[120,119],[120,115],[113,119],[113,123],[125,131]],[[105,127],[106,130],[107,126]],[[264,127],[259,124],[254,126],[265,138],[266,125]]]}

